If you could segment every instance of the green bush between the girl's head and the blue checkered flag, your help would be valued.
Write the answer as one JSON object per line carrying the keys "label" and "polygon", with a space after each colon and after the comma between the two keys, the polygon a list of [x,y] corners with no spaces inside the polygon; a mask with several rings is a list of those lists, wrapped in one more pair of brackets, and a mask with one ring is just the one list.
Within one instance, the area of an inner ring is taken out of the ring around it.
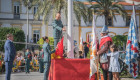
{"label": "green bush between the girl's head and the blue checkered flag", "polygon": [[126,45],[127,42],[127,36],[126,35],[116,35],[112,37],[113,43],[118,47],[122,48],[124,45]]}

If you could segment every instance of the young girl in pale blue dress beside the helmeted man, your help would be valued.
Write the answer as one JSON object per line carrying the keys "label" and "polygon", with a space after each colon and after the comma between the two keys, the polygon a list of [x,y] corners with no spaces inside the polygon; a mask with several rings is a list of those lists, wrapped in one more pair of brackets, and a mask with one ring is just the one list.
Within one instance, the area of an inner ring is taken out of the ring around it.
{"label": "young girl in pale blue dress beside the helmeted man", "polygon": [[115,80],[119,80],[119,72],[120,64],[118,61],[119,52],[117,52],[117,48],[114,44],[110,46],[111,53],[108,53],[107,56],[110,56],[110,64],[109,64],[109,71],[113,73],[113,77]]}

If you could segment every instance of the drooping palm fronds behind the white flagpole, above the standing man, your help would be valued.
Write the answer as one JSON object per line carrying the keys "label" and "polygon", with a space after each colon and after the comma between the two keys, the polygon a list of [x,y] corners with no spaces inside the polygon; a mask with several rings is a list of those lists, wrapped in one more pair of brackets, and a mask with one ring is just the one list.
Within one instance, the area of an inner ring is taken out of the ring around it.
{"label": "drooping palm fronds behind the white flagpole, above the standing man", "polygon": [[[87,10],[88,7],[80,1],[73,1],[73,10],[78,23],[81,22],[83,17],[84,22],[88,22]],[[38,0],[38,11],[35,18],[38,19],[40,15],[43,15],[43,21],[48,21],[50,16],[56,15],[57,12],[63,12],[67,17],[67,0]]]}

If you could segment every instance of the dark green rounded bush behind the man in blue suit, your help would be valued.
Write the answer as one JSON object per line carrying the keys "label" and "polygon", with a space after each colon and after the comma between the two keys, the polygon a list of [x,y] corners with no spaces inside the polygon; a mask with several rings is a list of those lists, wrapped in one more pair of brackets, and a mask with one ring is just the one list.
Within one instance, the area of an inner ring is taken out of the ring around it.
{"label": "dark green rounded bush behind the man in blue suit", "polygon": [[[25,34],[23,30],[20,30],[19,28],[7,28],[7,27],[1,27],[0,28],[0,40],[6,40],[7,34],[13,34],[14,35],[14,42],[25,42]],[[0,41],[0,51],[4,51],[4,43]],[[15,44],[16,51],[22,50],[25,45],[23,44]]]}

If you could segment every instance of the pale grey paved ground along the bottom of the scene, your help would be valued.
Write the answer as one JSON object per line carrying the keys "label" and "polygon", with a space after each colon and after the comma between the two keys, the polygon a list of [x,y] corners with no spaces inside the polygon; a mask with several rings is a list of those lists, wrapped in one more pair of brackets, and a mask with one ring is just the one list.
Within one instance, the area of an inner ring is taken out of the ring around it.
{"label": "pale grey paved ground along the bottom of the scene", "polygon": [[[5,80],[5,74],[0,74],[0,80]],[[30,74],[12,73],[11,80],[43,80],[43,73],[31,72]],[[132,78],[122,78],[121,80],[140,80]]]}

